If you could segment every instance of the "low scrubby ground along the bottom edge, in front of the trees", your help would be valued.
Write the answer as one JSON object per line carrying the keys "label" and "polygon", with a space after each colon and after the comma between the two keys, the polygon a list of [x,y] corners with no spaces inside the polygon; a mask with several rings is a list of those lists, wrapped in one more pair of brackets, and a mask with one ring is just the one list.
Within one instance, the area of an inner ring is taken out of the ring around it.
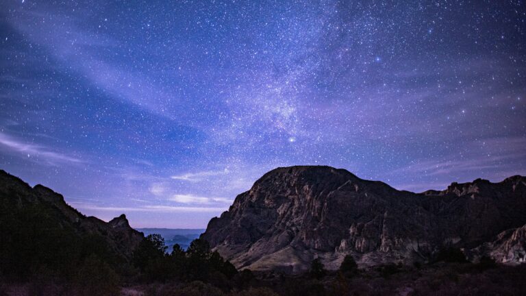
{"label": "low scrubby ground along the bottom edge, in front of the trees", "polygon": [[437,262],[423,267],[382,266],[353,272],[311,273],[288,276],[241,271],[227,279],[212,273],[201,280],[170,277],[137,280],[90,273],[84,290],[57,278],[35,277],[25,283],[3,282],[0,295],[181,295],[181,296],[273,296],[273,295],[525,295],[524,265],[488,266]]}

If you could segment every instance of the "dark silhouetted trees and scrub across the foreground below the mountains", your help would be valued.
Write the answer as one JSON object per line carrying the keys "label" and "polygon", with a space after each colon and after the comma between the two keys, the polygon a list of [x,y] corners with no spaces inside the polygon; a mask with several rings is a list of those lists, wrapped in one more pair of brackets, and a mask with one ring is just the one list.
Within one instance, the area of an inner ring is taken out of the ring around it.
{"label": "dark silhouetted trees and scrub across the foreground below the mountains", "polygon": [[[326,271],[315,259],[308,273],[290,276],[237,271],[201,239],[186,251],[175,245],[168,252],[161,236],[147,236],[132,262],[108,252],[95,237],[75,246],[79,250],[57,258],[37,260],[42,251],[24,252],[21,255],[27,258],[21,264],[27,262],[23,265],[27,270],[2,269],[0,295],[521,295],[526,291],[525,266],[505,267],[488,258],[473,264],[454,249],[438,253],[430,264],[411,267],[388,264],[358,269],[347,256],[338,271]],[[63,256],[71,261],[62,261]]]}

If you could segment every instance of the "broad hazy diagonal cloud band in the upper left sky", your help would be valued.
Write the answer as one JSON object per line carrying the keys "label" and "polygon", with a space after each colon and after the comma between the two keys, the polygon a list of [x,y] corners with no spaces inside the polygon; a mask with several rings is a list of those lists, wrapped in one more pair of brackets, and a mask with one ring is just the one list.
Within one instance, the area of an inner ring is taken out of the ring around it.
{"label": "broad hazy diagonal cloud band in the upper left sky", "polygon": [[[69,67],[73,66],[82,77],[88,78],[92,84],[108,91],[115,98],[124,99],[139,108],[172,120],[182,119],[186,115],[174,114],[180,108],[171,108],[168,112],[162,107],[161,102],[177,101],[178,104],[181,102],[149,77],[98,58],[97,52],[101,48],[118,47],[118,42],[101,34],[94,37],[79,28],[77,23],[83,23],[82,16],[64,18],[53,10],[18,10],[16,16],[23,21],[15,21],[16,18],[13,18],[8,19],[8,23],[17,32],[45,47],[56,60]],[[54,22],[48,22],[48,18],[53,19]],[[55,23],[62,23],[62,27],[68,29],[58,29],[53,25]],[[153,101],[149,99],[151,97],[158,99]]]}

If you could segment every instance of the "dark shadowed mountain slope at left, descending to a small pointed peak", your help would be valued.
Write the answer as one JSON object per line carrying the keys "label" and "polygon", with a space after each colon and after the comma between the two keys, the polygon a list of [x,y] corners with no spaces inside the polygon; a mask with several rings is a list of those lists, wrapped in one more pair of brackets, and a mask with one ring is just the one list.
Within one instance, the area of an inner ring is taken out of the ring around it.
{"label": "dark shadowed mountain slope at left, descending to a small pointed peak", "polygon": [[62,195],[2,170],[0,234],[0,274],[16,277],[42,267],[68,273],[89,254],[122,266],[144,238],[124,214],[108,223],[86,217]]}

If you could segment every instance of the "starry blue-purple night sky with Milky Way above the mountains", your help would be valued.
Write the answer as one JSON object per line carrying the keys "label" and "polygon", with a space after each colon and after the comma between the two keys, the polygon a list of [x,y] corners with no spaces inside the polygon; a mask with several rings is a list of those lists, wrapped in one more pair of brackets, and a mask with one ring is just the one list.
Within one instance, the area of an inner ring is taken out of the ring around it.
{"label": "starry blue-purple night sky with Milky Way above the mountains", "polygon": [[205,227],[275,167],[526,175],[523,1],[0,0],[0,168]]}

